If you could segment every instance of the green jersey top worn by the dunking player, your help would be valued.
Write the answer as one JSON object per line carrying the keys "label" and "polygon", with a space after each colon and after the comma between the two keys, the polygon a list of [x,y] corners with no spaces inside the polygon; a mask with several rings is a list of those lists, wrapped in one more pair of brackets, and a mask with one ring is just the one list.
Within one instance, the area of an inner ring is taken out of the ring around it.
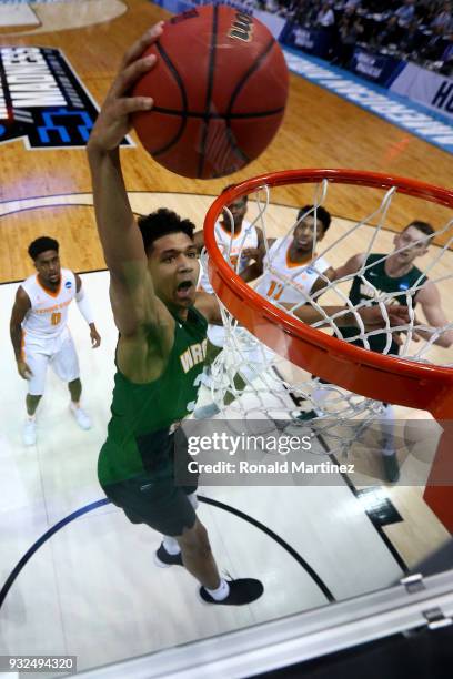
{"label": "green jersey top worn by the dunking player", "polygon": [[147,473],[168,438],[169,428],[193,409],[207,352],[208,323],[194,307],[187,321],[174,318],[174,344],[162,375],[134,384],[114,376],[111,419],[98,474],[102,485]]}

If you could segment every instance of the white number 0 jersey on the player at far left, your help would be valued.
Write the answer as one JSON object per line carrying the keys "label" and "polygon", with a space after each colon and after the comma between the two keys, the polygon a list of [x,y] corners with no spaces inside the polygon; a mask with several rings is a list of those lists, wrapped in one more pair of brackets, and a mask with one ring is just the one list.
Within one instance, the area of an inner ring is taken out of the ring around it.
{"label": "white number 0 jersey on the player at far left", "polygon": [[39,338],[60,335],[67,325],[68,306],[76,297],[76,276],[72,271],[61,270],[60,287],[54,293],[42,287],[38,274],[27,278],[22,288],[31,303],[31,308],[22,322],[22,330],[27,335]]}

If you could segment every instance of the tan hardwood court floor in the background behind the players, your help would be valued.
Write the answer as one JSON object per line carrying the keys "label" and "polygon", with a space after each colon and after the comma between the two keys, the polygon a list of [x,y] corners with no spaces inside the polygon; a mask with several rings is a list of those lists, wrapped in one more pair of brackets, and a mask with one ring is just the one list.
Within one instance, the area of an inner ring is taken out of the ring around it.
{"label": "tan hardwood court floor in the background behind the players", "polygon": [[[168,17],[145,0],[113,3],[110,0],[79,0],[37,4],[37,11],[41,12],[39,29],[21,31],[16,27],[10,32],[3,31],[0,43],[62,50],[98,104],[105,95],[124,49],[150,24]],[[115,18],[101,21],[102,16]],[[71,22],[76,27],[83,23],[81,17],[85,26],[72,29]],[[295,168],[355,168],[444,186],[451,182],[453,169],[446,152],[295,75],[291,75],[283,125],[271,146],[246,169],[226,179],[194,181],[177,176],[155,164],[139,144],[123,152],[127,186],[134,192],[213,196],[225,183]],[[1,202],[89,193],[90,190],[83,150],[30,151],[22,140],[1,145]],[[303,190],[289,186],[281,191],[278,200],[298,205],[304,200]],[[345,191],[339,192],[331,211],[343,217],[360,219],[371,205],[366,191]],[[392,215],[392,227],[401,229],[415,217],[439,226],[447,219],[445,213],[444,209],[402,196]],[[24,220],[20,229],[13,216],[2,219],[0,281],[19,280],[30,272],[24,252],[30,240],[42,233],[48,219],[49,227],[57,229],[62,251],[73,268],[85,271],[103,266],[89,212],[82,215],[80,211],[62,213],[57,210],[51,217],[48,214],[42,220],[36,215]],[[200,225],[202,217],[198,215]]]}

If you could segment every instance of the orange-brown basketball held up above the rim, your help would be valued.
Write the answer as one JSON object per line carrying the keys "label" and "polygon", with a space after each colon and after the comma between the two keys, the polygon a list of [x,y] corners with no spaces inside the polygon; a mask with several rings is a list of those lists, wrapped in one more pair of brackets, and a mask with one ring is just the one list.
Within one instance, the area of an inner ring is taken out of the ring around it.
{"label": "orange-brown basketball held up above the rim", "polygon": [[226,6],[199,7],[165,22],[144,54],[158,62],[133,89],[152,97],[133,115],[152,158],[177,174],[212,179],[236,172],[264,151],[284,113],[283,53],[254,17]]}

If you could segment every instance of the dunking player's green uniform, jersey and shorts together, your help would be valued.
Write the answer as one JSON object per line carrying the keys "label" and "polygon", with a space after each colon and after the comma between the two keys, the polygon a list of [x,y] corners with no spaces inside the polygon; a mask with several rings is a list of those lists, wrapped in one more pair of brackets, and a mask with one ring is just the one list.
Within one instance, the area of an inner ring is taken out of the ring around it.
{"label": "dunking player's green uniform, jersey and shorts together", "polygon": [[190,509],[182,511],[183,526],[194,520],[183,488],[174,486],[173,430],[195,405],[208,327],[194,307],[187,321],[174,321],[173,347],[158,379],[135,384],[117,372],[112,417],[98,463],[100,484],[113,503],[134,523],[147,523],[167,535],[182,531],[178,515],[185,504]]}

